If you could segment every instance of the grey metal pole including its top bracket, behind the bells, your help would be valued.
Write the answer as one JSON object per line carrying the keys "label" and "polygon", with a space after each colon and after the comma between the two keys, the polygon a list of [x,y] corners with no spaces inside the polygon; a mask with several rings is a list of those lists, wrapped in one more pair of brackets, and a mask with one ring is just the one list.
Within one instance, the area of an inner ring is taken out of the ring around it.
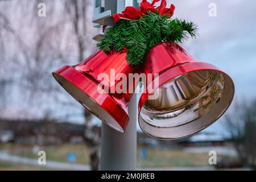
{"label": "grey metal pole including its top bracket, behind the bells", "polygon": [[[110,16],[121,13],[126,6],[137,6],[135,0],[105,0],[104,12],[101,1],[94,0],[94,23],[112,26]],[[100,7],[99,7],[100,6]],[[101,128],[101,170],[136,170],[137,169],[137,94],[129,104],[130,122],[124,134],[118,133],[102,123]]]}

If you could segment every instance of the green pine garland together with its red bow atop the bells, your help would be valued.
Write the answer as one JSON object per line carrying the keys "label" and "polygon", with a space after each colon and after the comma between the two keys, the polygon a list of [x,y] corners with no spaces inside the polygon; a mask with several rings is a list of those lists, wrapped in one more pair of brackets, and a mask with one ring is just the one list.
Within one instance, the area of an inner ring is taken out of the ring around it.
{"label": "green pine garland together with its red bow atop the bells", "polygon": [[143,0],[141,10],[126,7],[122,14],[114,14],[114,26],[109,28],[104,38],[97,44],[106,53],[127,51],[127,62],[131,66],[143,64],[144,56],[150,48],[161,42],[181,43],[197,35],[193,22],[171,19],[175,6],[166,8],[166,0],[160,6]]}

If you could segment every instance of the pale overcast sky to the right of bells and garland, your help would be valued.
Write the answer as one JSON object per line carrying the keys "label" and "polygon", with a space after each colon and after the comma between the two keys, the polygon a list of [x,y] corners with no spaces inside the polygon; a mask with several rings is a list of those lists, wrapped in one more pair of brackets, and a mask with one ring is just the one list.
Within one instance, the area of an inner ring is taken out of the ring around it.
{"label": "pale overcast sky to the right of bells and garland", "polygon": [[[199,28],[197,39],[189,39],[183,46],[197,60],[212,63],[233,78],[235,100],[256,97],[256,1],[173,0],[168,1],[168,6],[170,3],[176,6],[174,17],[192,20]],[[216,17],[209,16],[210,3],[217,7]],[[13,106],[11,108],[14,110]],[[59,110],[65,112],[62,107]],[[206,131],[222,133],[221,120],[223,118]],[[73,121],[84,122],[84,119],[76,117]]]}

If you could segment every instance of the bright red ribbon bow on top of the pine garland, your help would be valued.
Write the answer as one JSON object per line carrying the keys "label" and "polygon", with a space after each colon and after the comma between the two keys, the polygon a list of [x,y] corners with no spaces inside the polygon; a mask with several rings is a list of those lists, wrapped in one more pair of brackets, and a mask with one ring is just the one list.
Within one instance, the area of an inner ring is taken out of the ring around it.
{"label": "bright red ribbon bow on top of the pine garland", "polygon": [[141,10],[136,9],[135,7],[128,6],[125,11],[122,11],[122,14],[114,14],[113,19],[114,22],[118,22],[120,18],[126,19],[140,19],[142,16],[146,15],[148,12],[158,13],[161,16],[167,16],[171,18],[174,15],[175,6],[171,5],[170,8],[166,8],[166,0],[162,0],[160,6],[155,8],[155,3],[160,0],[154,0],[152,3],[147,2],[147,0],[143,0],[141,2]]}

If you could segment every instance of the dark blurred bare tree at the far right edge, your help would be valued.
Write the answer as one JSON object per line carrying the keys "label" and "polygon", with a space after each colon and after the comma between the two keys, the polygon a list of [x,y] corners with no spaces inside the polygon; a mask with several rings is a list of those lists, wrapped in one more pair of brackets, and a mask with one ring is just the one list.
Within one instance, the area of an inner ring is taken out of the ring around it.
{"label": "dark blurred bare tree at the far right edge", "polygon": [[237,103],[225,120],[241,162],[256,169],[256,100],[250,104]]}

